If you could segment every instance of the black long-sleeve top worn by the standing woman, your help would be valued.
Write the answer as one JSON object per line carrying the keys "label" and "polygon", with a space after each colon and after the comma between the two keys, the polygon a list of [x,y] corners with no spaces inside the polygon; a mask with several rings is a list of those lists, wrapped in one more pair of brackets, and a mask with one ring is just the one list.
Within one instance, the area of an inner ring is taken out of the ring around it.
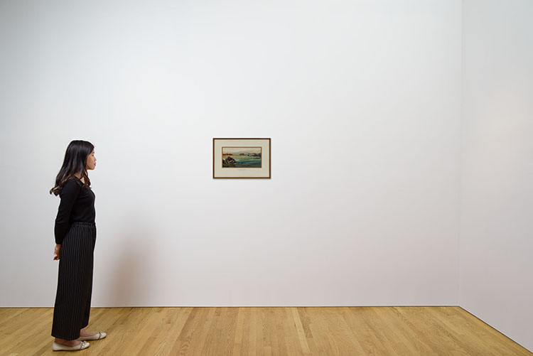
{"label": "black long-sleeve top worn by the standing woman", "polygon": [[79,178],[67,180],[59,192],[58,216],[55,217],[55,243],[62,244],[72,222],[95,222],[95,193]]}

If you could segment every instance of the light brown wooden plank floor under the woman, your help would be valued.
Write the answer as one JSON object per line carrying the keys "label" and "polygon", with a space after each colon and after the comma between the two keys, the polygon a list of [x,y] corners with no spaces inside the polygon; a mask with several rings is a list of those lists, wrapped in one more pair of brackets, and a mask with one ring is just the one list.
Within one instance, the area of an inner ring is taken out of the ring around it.
{"label": "light brown wooden plank floor under the woman", "polygon": [[[0,355],[53,352],[52,308],[0,308]],[[93,308],[74,355],[532,355],[459,307]]]}

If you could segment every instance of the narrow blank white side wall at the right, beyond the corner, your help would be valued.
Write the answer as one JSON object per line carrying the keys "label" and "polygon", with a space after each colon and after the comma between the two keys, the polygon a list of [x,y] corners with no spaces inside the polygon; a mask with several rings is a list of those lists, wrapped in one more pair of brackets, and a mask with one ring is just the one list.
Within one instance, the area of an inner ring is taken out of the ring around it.
{"label": "narrow blank white side wall at the right, beyond the corner", "polygon": [[463,1],[459,305],[533,350],[533,1]]}

